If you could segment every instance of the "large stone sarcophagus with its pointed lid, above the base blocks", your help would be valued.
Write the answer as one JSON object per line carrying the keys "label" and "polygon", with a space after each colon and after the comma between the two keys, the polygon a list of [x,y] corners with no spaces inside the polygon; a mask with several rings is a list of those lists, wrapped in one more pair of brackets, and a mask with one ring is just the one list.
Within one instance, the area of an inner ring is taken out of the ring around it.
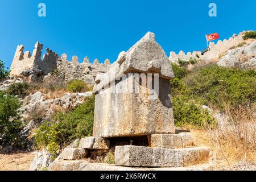
{"label": "large stone sarcophagus with its pointed lid, above the base blocks", "polygon": [[170,100],[173,77],[166,53],[148,32],[97,77],[93,136],[175,133]]}

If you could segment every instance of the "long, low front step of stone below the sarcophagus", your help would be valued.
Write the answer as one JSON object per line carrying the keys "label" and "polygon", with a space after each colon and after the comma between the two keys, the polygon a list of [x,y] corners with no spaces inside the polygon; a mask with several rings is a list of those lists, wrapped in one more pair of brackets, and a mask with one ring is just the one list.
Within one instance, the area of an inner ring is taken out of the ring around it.
{"label": "long, low front step of stone below the sarcophagus", "polygon": [[115,147],[115,165],[133,167],[184,167],[209,159],[208,147],[151,148],[142,146]]}

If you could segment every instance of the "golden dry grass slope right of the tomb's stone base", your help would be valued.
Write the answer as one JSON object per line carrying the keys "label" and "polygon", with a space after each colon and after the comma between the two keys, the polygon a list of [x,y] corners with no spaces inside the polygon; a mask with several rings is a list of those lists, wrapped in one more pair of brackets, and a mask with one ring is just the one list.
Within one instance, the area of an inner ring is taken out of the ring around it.
{"label": "golden dry grass slope right of the tomb's stone base", "polygon": [[[225,110],[227,121],[215,129],[191,130],[196,146],[207,146],[213,151],[213,162],[218,170],[236,170],[238,164],[256,168],[256,105]],[[238,165],[238,166],[239,166]],[[246,168],[245,167],[245,168]]]}

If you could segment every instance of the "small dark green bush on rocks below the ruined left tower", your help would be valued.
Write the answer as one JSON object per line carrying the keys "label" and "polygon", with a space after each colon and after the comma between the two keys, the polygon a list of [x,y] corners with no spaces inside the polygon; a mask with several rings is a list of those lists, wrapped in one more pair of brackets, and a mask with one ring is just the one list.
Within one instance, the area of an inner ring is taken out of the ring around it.
{"label": "small dark green bush on rocks below the ruined left tower", "polygon": [[29,88],[30,84],[28,84],[27,82],[17,82],[11,84],[6,90],[6,93],[13,96],[24,97],[27,95]]}

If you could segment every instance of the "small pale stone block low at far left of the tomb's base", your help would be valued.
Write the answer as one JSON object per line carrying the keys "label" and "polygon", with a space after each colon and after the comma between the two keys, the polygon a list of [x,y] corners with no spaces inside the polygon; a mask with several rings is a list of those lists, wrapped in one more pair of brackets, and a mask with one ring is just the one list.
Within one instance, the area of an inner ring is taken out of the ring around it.
{"label": "small pale stone block low at far left of the tomb's base", "polygon": [[64,160],[77,160],[85,158],[87,153],[84,148],[64,148],[61,155]]}

